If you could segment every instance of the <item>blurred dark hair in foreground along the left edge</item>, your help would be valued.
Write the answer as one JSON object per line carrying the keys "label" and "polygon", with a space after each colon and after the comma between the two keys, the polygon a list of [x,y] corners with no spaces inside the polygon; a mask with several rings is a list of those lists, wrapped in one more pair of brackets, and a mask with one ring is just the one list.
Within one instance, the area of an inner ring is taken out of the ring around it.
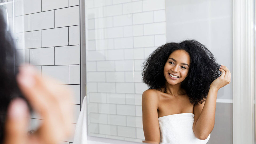
{"label": "blurred dark hair in foreground along the left edge", "polygon": [[0,143],[3,143],[5,137],[4,127],[8,105],[16,97],[24,98],[16,81],[18,54],[3,13],[4,11],[0,8]]}

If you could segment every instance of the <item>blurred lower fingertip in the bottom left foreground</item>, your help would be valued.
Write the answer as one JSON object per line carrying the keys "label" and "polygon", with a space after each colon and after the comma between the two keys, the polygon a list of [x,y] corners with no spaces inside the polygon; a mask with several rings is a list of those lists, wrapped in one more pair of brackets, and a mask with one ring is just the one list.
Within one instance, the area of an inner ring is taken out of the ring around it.
{"label": "blurred lower fingertip in the bottom left foreground", "polygon": [[5,124],[5,144],[27,143],[28,114],[28,107],[24,100],[17,98],[10,103]]}

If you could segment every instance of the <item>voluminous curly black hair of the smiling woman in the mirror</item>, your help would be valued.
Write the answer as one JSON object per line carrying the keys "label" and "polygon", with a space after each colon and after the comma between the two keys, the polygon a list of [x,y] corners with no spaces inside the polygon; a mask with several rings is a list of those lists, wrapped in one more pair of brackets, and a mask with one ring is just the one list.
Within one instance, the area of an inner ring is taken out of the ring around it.
{"label": "voluminous curly black hair of the smiling woman in the mirror", "polygon": [[191,104],[205,102],[212,81],[221,75],[219,64],[213,54],[196,40],[184,40],[180,43],[166,43],[158,47],[143,63],[142,81],[149,89],[165,89],[164,66],[169,55],[175,50],[185,50],[190,56],[188,77],[181,87],[187,92]]}

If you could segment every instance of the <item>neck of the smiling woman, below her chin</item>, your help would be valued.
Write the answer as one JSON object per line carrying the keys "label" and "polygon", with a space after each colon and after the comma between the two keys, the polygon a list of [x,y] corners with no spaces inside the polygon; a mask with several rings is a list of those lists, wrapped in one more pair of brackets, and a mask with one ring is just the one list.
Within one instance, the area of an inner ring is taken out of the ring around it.
{"label": "neck of the smiling woman, below her chin", "polygon": [[167,81],[165,83],[166,85],[166,93],[170,94],[174,97],[184,95],[185,91],[181,88],[181,83],[176,85],[170,85]]}

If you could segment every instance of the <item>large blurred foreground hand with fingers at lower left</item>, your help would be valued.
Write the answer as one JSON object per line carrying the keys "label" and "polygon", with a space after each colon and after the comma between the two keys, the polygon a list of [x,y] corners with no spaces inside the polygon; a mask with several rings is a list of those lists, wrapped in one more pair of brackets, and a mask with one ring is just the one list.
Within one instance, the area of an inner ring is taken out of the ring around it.
{"label": "large blurred foreground hand with fingers at lower left", "polygon": [[20,98],[8,108],[5,125],[5,144],[57,144],[70,135],[70,91],[63,85],[56,85],[51,79],[42,79],[31,67],[22,67],[17,83],[33,110],[42,114],[44,120],[28,136],[28,107]]}

